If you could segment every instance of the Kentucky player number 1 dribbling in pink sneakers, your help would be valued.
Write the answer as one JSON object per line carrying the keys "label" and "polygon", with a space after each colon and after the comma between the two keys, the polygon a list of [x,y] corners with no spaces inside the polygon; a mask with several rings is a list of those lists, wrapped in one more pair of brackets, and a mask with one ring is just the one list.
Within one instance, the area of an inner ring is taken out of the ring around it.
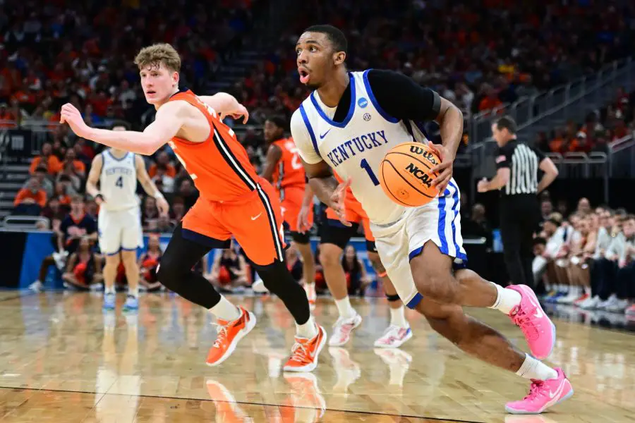
{"label": "Kentucky player number 1 dribbling in pink sneakers", "polygon": [[[296,44],[300,81],[315,91],[294,113],[291,135],[313,192],[341,223],[350,225],[344,214],[344,192],[350,186],[368,214],[377,252],[401,300],[461,350],[531,379],[529,395],[508,403],[508,412],[536,414],[569,398],[573,389],[562,369],[521,353],[500,333],[463,313],[462,306],[469,306],[509,315],[540,359],[555,344],[555,326],[530,288],[502,288],[466,269],[459,189],[452,179],[463,135],[461,111],[405,75],[349,73],[346,48],[344,34],[330,25],[308,28]],[[380,161],[401,142],[427,142],[417,123],[431,120],[439,123],[443,143],[433,146],[442,163],[432,169],[439,173],[433,183],[441,194],[422,207],[399,206],[380,187]],[[345,182],[338,184],[332,170]]]}

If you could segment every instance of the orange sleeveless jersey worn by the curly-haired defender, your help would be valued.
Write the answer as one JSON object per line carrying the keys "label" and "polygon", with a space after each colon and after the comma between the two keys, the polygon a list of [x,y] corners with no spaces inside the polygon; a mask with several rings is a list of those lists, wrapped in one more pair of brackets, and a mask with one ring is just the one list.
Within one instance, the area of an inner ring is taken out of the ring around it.
{"label": "orange sleeveless jersey worn by the curly-haired defender", "polygon": [[210,136],[203,142],[174,137],[169,141],[176,158],[190,174],[201,197],[229,201],[244,197],[258,187],[258,175],[234,131],[222,123],[216,112],[190,90],[179,91],[169,101],[183,100],[199,109],[210,124]]}

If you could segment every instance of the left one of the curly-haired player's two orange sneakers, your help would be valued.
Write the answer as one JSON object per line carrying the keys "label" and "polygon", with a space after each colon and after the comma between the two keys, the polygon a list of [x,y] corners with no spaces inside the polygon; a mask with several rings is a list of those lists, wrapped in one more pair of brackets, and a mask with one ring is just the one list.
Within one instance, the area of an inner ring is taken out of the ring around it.
{"label": "left one of the curly-haired player's two orange sneakers", "polygon": [[243,309],[243,307],[238,308],[241,310],[241,317],[238,317],[238,319],[234,321],[217,320],[218,335],[216,342],[210,348],[210,352],[207,353],[207,360],[205,361],[208,366],[217,366],[227,360],[231,353],[234,353],[238,341],[255,326],[255,315]]}

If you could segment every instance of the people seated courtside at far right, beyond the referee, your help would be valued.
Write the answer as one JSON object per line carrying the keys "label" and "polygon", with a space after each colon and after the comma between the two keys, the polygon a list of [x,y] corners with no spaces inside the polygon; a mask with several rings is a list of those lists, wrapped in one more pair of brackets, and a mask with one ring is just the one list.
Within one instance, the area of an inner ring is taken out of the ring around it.
{"label": "people seated courtside at far right, beyond the referee", "polygon": [[533,271],[545,300],[635,317],[635,215],[579,200],[569,216],[543,200]]}

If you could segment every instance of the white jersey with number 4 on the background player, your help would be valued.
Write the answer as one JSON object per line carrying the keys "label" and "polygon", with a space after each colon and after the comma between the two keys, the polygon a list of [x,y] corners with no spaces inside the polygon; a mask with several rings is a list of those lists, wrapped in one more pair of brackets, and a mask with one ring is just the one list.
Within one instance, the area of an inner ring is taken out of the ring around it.
{"label": "white jersey with number 4 on the background player", "polygon": [[102,174],[99,176],[99,192],[104,196],[102,207],[109,211],[139,206],[135,154],[128,152],[117,159],[110,149],[102,152]]}

